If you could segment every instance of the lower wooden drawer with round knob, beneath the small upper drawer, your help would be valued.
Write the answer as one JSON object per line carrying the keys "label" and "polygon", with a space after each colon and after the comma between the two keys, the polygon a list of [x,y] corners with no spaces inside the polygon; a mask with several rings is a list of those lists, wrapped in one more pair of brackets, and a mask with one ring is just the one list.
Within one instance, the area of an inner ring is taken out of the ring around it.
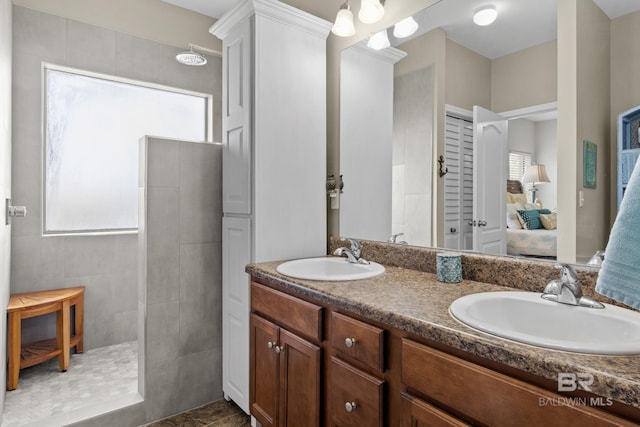
{"label": "lower wooden drawer with round knob, beneath the small upper drawer", "polygon": [[333,356],[329,369],[331,426],[382,426],[384,381]]}

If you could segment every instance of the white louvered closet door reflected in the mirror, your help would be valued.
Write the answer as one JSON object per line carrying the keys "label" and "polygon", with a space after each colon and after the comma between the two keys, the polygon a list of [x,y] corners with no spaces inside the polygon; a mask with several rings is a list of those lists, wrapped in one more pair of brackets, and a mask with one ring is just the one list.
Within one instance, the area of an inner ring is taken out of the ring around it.
{"label": "white louvered closet door reflected in the mirror", "polygon": [[447,116],[444,176],[445,247],[471,249],[473,245],[473,132],[472,122]]}

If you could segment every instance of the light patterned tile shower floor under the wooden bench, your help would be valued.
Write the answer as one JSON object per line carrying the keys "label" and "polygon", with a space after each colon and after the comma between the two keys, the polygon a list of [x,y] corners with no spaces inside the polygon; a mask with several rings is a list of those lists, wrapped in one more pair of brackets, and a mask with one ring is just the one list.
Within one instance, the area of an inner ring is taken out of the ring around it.
{"label": "light patterned tile shower floor under the wooden bench", "polygon": [[18,388],[6,393],[2,427],[46,420],[137,390],[137,341],[72,354],[67,372],[60,372],[54,358],[20,371]]}

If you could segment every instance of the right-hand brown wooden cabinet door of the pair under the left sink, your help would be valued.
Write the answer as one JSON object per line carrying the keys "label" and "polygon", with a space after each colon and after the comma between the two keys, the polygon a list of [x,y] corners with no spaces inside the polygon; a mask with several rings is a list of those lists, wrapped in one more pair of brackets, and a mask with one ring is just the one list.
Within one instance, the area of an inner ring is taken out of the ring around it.
{"label": "right-hand brown wooden cabinet door of the pair under the left sink", "polygon": [[280,426],[320,426],[320,348],[280,330]]}

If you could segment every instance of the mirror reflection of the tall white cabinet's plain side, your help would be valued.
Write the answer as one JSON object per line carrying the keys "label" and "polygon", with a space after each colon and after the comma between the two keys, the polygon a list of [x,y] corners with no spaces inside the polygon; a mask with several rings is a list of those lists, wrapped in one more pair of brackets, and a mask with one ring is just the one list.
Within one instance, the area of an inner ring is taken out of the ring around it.
{"label": "mirror reflection of the tall white cabinet's plain side", "polygon": [[378,241],[391,236],[394,62],[383,51],[376,53],[362,44],[342,52],[342,236]]}

